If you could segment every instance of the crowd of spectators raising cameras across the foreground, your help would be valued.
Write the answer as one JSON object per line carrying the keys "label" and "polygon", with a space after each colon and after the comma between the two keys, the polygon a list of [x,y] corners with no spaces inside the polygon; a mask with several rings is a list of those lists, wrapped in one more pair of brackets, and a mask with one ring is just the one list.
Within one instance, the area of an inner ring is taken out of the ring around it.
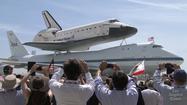
{"label": "crowd of spectators raising cameras across the foreground", "polygon": [[[111,75],[105,75],[109,68]],[[0,105],[185,105],[187,74],[176,64],[159,64],[153,78],[138,80],[117,64],[102,61],[94,78],[84,60],[69,59],[63,67],[34,64],[24,76],[4,67]],[[165,72],[166,71],[166,72]],[[163,73],[165,72],[165,73]],[[35,75],[33,75],[35,74]]]}

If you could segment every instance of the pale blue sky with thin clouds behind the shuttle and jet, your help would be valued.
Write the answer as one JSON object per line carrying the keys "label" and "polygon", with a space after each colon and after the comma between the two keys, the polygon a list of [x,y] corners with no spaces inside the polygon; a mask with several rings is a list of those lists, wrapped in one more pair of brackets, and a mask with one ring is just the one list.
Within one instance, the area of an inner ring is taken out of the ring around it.
{"label": "pale blue sky with thin clouds behind the shuttle and jet", "polygon": [[[43,10],[48,10],[62,28],[117,18],[138,28],[138,33],[127,39],[127,43],[146,42],[154,36],[157,44],[187,59],[186,0],[1,0],[1,58],[10,56],[6,31],[13,30],[26,42],[46,28],[41,16]],[[118,44],[120,41],[103,46]],[[187,69],[186,62],[182,66]]]}

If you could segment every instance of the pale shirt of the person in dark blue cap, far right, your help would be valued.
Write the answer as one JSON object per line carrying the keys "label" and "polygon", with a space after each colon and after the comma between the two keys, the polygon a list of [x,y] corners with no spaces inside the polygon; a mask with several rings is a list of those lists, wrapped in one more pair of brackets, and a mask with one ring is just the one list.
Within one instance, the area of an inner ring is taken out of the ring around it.
{"label": "pale shirt of the person in dark blue cap, far right", "polygon": [[187,87],[186,85],[169,86],[161,81],[161,71],[156,70],[153,75],[153,86],[163,96],[164,105],[186,105]]}

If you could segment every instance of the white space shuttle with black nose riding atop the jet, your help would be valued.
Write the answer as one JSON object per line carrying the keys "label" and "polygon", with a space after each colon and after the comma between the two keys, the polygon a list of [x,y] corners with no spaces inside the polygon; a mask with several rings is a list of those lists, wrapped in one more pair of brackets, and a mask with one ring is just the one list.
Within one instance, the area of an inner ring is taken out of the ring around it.
{"label": "white space shuttle with black nose riding atop the jet", "polygon": [[24,45],[49,51],[82,51],[92,45],[131,37],[137,32],[135,27],[117,19],[62,29],[48,11],[43,11],[42,16],[47,29],[37,33],[32,42]]}

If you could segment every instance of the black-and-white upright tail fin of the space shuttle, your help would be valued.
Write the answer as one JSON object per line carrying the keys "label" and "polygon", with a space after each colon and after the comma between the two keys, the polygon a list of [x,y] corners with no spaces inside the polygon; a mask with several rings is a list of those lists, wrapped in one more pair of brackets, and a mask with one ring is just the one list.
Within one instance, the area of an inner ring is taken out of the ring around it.
{"label": "black-and-white upright tail fin of the space shuttle", "polygon": [[51,16],[51,14],[47,10],[42,11],[42,16],[44,18],[47,28],[56,28],[58,30],[62,30],[60,25],[56,22],[56,20]]}

